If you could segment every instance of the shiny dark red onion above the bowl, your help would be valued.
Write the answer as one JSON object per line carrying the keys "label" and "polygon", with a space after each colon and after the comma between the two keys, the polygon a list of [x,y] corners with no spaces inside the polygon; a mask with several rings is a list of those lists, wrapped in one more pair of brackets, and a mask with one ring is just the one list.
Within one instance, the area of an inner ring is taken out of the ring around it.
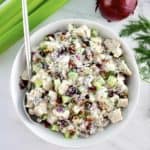
{"label": "shiny dark red onion above the bowl", "polygon": [[108,21],[118,21],[134,13],[137,0],[97,0],[102,16]]}

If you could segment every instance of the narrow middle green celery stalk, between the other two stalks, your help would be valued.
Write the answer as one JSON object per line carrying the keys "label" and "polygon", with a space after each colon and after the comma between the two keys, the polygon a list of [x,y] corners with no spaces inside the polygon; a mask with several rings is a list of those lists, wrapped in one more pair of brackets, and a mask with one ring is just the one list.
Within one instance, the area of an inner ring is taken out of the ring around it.
{"label": "narrow middle green celery stalk, between the other two stalks", "polygon": [[[44,3],[45,0],[32,0],[31,4],[28,5],[28,13],[29,15],[36,10],[37,7],[39,7],[42,3]],[[16,25],[17,23],[19,23],[22,19],[22,14],[21,11],[18,12],[13,19],[11,19],[7,24],[5,24],[4,26],[2,26],[0,28],[0,35],[6,33],[7,31],[9,31],[11,29],[11,27],[13,27],[14,25]]]}

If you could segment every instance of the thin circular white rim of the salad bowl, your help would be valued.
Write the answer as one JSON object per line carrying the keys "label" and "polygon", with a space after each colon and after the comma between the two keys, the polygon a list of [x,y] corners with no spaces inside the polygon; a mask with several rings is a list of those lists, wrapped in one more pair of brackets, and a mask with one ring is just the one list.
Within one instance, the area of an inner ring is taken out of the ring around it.
{"label": "thin circular white rim of the salad bowl", "polygon": [[[109,32],[110,34],[114,35],[114,38],[118,39],[121,44],[123,44],[125,46],[125,49],[126,49],[126,52],[130,54],[130,56],[132,56],[130,59],[133,60],[132,64],[134,66],[134,69],[135,69],[135,73],[136,73],[136,80],[137,80],[137,95],[136,95],[136,100],[134,101],[134,107],[132,110],[130,110],[130,115],[125,119],[123,120],[122,124],[118,125],[118,129],[115,130],[116,132],[111,132],[111,136],[115,136],[123,127],[125,127],[125,125],[128,123],[128,121],[130,120],[130,118],[132,117],[132,114],[133,112],[135,111],[135,108],[138,104],[138,101],[139,101],[139,91],[140,91],[140,78],[139,78],[139,73],[138,73],[138,67],[137,67],[137,64],[136,64],[136,61],[135,61],[135,57],[132,53],[132,51],[130,50],[130,48],[127,46],[127,44],[116,34],[114,33],[109,27],[105,27],[104,25],[100,24],[100,23],[97,23],[96,21],[89,21],[87,19],[61,19],[61,20],[58,20],[58,21],[54,21],[52,23],[49,23],[43,27],[41,27],[40,29],[36,30],[35,32],[33,32],[33,34],[31,35],[31,38],[34,37],[36,35],[36,33],[39,33],[39,32],[42,32],[43,29],[45,28],[49,28],[50,26],[54,27],[55,24],[62,24],[62,23],[66,23],[66,24],[69,24],[69,22],[74,22],[75,24],[78,24],[78,22],[80,22],[81,24],[93,24],[93,25],[96,25],[98,26],[99,28],[104,28],[107,32]],[[76,23],[77,22],[77,23]],[[94,145],[94,144],[97,144],[98,142],[100,143],[101,141],[104,141],[105,139],[108,139],[110,135],[105,135],[103,139],[101,139],[100,141],[96,140],[96,141],[93,141],[91,143],[83,143],[81,145],[76,145],[76,144],[73,144],[73,145],[70,145],[70,144],[62,144],[62,143],[58,143],[57,141],[49,141],[47,138],[44,138],[43,136],[41,136],[40,134],[37,134],[35,131],[32,130],[32,128],[27,124],[27,122],[23,119],[22,115],[19,113],[19,110],[17,108],[17,105],[14,101],[15,99],[15,96],[14,96],[14,92],[13,92],[13,88],[14,88],[14,84],[13,84],[13,75],[15,74],[15,70],[13,68],[15,68],[16,64],[17,64],[17,60],[19,58],[19,56],[21,55],[22,51],[23,51],[23,47],[24,45],[22,44],[22,46],[20,47],[15,59],[14,59],[14,62],[13,62],[13,65],[12,65],[12,70],[11,70],[11,74],[10,74],[10,93],[11,93],[11,97],[12,97],[12,101],[13,101],[13,104],[14,104],[14,107],[15,107],[15,110],[17,112],[17,115],[18,117],[20,118],[20,120],[23,122],[23,124],[32,132],[34,133],[36,136],[38,136],[40,139],[44,140],[44,141],[47,141],[48,143],[51,143],[51,144],[54,144],[54,145],[57,145],[57,146],[62,146],[62,147],[68,147],[68,148],[79,148],[79,147],[87,147],[87,146],[91,146],[91,145]],[[29,121],[29,120],[28,120]]]}

